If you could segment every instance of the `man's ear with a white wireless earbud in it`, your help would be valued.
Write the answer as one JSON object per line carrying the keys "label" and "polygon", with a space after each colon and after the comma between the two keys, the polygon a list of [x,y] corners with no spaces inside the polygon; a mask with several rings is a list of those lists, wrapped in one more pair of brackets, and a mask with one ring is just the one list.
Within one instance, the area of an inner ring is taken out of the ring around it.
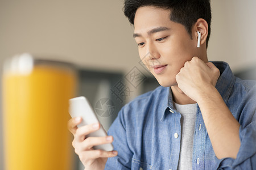
{"label": "man's ear with a white wireless earbud in it", "polygon": [[203,44],[205,44],[205,46],[206,46],[206,41],[207,41],[207,36],[208,36],[208,23],[203,18],[197,19],[197,22],[195,23],[195,26],[193,27],[193,30],[192,30],[192,35],[195,36],[196,42],[197,42],[197,37],[198,37],[197,31],[201,32],[200,46]]}

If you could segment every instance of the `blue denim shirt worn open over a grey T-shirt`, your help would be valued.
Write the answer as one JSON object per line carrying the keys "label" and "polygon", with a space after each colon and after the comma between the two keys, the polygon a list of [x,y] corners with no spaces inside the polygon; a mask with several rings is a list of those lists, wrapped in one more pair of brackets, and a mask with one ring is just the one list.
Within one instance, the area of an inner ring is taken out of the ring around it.
{"label": "blue denim shirt worn open over a grey T-shirt", "polygon": [[[221,73],[216,88],[241,125],[241,147],[236,159],[218,159],[197,105],[192,169],[256,169],[255,81],[236,78],[228,63],[213,63]],[[108,159],[105,169],[177,169],[180,118],[170,87],[160,86],[126,104],[108,131],[118,155]]]}

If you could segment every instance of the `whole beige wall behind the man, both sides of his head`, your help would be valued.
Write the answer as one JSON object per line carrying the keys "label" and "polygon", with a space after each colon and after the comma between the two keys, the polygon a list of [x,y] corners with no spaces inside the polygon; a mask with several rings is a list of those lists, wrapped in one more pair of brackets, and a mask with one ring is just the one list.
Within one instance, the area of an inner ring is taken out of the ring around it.
{"label": "whole beige wall behind the man, both sides of his head", "polygon": [[[0,64],[31,52],[86,69],[127,73],[139,57],[122,5],[122,0],[0,0]],[[226,61],[233,71],[256,65],[255,6],[254,0],[212,0],[210,60]],[[2,152],[2,139],[0,146]]]}

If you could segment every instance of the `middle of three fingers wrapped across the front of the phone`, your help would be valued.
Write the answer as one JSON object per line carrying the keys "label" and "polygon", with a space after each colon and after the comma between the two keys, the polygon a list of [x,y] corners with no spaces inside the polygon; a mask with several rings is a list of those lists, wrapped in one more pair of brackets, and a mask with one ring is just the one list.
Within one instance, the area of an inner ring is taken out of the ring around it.
{"label": "middle of three fingers wrapped across the front of the phone", "polygon": [[93,146],[112,143],[113,136],[107,137],[88,137],[82,142],[81,150],[90,150]]}

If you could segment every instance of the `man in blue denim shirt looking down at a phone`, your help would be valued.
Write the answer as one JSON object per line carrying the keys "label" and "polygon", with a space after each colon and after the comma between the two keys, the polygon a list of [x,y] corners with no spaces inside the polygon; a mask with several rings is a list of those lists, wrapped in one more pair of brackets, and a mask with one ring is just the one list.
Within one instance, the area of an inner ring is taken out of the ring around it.
{"label": "man in blue denim shirt looking down at a phone", "polygon": [[[255,82],[208,62],[209,0],[125,0],[124,12],[161,86],[121,109],[109,141],[69,121],[85,169],[255,169]],[[92,148],[112,142],[118,154]]]}

